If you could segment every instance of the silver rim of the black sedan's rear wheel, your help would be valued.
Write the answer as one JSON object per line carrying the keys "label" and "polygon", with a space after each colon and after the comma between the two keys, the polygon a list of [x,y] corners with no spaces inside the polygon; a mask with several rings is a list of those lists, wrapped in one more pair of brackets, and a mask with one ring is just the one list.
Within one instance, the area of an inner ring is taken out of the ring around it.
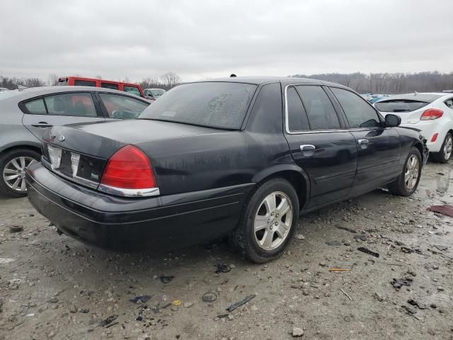
{"label": "silver rim of the black sedan's rear wheel", "polygon": [[292,225],[292,203],[281,191],[270,193],[258,206],[253,234],[261,249],[277,249],[287,239]]}

